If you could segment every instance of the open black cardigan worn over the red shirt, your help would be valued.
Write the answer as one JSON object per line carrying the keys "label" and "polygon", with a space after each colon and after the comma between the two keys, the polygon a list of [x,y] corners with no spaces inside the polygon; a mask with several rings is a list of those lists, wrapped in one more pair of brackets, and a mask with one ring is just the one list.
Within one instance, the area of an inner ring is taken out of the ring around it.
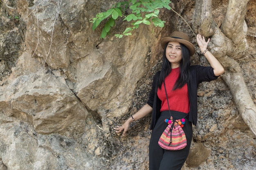
{"label": "open black cardigan worn over the red shirt", "polygon": [[[204,67],[200,65],[190,66],[191,79],[188,86],[189,92],[189,121],[191,121],[195,126],[198,116],[198,103],[197,103],[197,89],[198,85],[201,82],[210,82],[211,80],[217,79],[218,76],[215,76],[213,73],[212,67]],[[147,104],[153,108],[152,119],[150,124],[150,129],[152,130],[155,127],[155,123],[160,116],[160,108],[162,101],[157,96],[157,82],[160,71],[158,71],[153,79],[152,89],[149,95]]]}

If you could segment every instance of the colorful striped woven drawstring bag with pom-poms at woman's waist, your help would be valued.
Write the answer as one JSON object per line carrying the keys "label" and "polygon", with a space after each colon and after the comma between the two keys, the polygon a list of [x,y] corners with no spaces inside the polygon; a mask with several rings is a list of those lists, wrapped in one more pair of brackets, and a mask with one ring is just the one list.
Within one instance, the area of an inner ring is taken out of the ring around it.
{"label": "colorful striped woven drawstring bag with pom-poms at woman's waist", "polygon": [[179,121],[176,120],[172,124],[168,124],[158,141],[161,148],[166,150],[181,150],[186,147],[186,135],[182,127],[178,124]]}

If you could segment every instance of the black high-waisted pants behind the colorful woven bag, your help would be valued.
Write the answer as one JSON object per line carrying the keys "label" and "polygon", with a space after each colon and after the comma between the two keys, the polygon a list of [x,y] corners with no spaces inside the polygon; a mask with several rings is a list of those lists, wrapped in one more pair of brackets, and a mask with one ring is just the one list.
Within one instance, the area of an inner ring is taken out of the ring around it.
{"label": "black high-waisted pants behind the colorful woven bag", "polygon": [[[174,119],[182,119],[187,114],[177,111],[171,111]],[[163,111],[157,119],[155,127],[151,134],[149,144],[149,170],[180,170],[189,155],[189,148],[191,145],[193,130],[192,123],[185,118],[185,124],[182,128],[186,134],[187,146],[181,150],[165,150],[158,145],[158,140],[168,126],[164,119],[170,117],[169,111]]]}

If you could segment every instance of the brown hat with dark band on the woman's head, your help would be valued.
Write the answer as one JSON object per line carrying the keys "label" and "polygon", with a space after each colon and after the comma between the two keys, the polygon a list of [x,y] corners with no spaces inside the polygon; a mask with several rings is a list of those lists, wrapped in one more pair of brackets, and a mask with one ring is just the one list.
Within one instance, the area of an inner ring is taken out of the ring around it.
{"label": "brown hat with dark band on the woman's head", "polygon": [[194,55],[195,47],[190,42],[189,36],[186,35],[185,33],[174,31],[173,33],[171,33],[170,37],[162,38],[162,40],[160,41],[162,48],[164,49],[166,46],[166,43],[170,41],[175,41],[175,42],[184,44],[189,49],[190,56]]}

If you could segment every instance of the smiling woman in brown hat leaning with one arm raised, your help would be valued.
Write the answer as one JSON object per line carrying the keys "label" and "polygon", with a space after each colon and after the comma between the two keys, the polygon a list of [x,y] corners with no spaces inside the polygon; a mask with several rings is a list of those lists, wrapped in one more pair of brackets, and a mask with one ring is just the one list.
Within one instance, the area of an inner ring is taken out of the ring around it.
{"label": "smiling woman in brown hat leaning with one arm raised", "polygon": [[[152,83],[152,90],[148,102],[137,113],[131,115],[121,126],[114,128],[117,133],[126,134],[129,125],[152,112],[150,129],[152,130],[149,144],[149,169],[150,170],[180,170],[189,155],[192,140],[192,124],[197,122],[197,88],[204,81],[217,79],[224,68],[207,49],[208,43],[204,36],[198,34],[196,40],[200,51],[211,66],[190,66],[190,56],[195,53],[195,47],[189,37],[182,32],[175,31],[170,37],[161,40],[163,64],[161,71],[157,72]],[[166,91],[164,88],[166,84]],[[168,102],[166,99],[166,92]],[[181,150],[162,149],[158,140],[168,126],[164,119],[171,115],[175,119],[185,119],[182,128],[186,134],[187,146]]]}

